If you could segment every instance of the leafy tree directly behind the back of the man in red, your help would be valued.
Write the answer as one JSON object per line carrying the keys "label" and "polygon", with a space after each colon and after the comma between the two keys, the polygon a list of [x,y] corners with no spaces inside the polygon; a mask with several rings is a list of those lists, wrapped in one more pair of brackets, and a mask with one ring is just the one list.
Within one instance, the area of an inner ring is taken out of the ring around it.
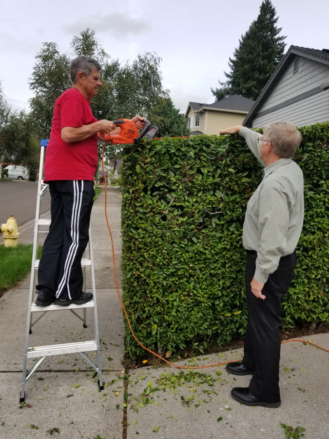
{"label": "leafy tree directly behind the back of the man in red", "polygon": [[66,54],[59,53],[54,42],[44,42],[36,60],[30,78],[30,89],[35,93],[30,99],[31,118],[38,136],[49,139],[55,101],[71,87],[71,61]]}

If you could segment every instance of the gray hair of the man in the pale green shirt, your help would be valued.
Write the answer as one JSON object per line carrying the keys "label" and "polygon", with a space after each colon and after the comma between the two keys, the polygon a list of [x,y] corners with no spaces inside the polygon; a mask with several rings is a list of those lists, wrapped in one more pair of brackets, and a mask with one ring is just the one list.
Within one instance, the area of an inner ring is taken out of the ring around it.
{"label": "gray hair of the man in the pale green shirt", "polygon": [[271,142],[275,154],[282,159],[291,159],[302,141],[295,125],[286,120],[270,122],[264,127],[264,140]]}

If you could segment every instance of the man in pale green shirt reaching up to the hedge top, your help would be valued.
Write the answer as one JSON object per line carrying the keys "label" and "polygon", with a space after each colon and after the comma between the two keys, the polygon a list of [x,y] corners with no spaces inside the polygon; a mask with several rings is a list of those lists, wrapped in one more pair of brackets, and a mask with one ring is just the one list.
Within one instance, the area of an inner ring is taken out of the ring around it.
{"label": "man in pale green shirt reaching up to the hedge top", "polygon": [[244,358],[226,366],[234,375],[252,375],[249,387],[235,387],[232,397],[242,404],[279,407],[281,304],[296,266],[304,219],[304,180],[291,160],[302,137],[286,121],[271,122],[264,134],[233,126],[220,132],[246,139],[264,166],[263,180],[247,205],[243,225],[248,327]]}

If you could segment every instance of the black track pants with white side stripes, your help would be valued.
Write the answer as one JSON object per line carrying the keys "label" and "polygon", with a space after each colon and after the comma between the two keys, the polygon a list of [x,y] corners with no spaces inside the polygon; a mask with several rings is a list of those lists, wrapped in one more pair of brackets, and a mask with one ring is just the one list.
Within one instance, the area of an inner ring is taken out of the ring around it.
{"label": "black track pants with white side stripes", "polygon": [[49,181],[51,224],[39,262],[38,285],[52,299],[77,299],[82,292],[81,258],[89,240],[94,203],[91,180]]}

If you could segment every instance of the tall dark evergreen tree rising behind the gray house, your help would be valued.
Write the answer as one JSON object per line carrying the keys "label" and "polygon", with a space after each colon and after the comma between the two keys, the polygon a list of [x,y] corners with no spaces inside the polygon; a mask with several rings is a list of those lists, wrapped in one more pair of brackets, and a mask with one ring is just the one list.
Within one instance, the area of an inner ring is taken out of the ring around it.
{"label": "tall dark evergreen tree rising behind the gray house", "polygon": [[286,37],[280,37],[277,27],[279,17],[271,0],[263,0],[257,20],[254,20],[239,40],[230,58],[231,72],[224,75],[226,82],[219,82],[220,88],[211,89],[217,100],[238,94],[256,100],[282,60]]}

